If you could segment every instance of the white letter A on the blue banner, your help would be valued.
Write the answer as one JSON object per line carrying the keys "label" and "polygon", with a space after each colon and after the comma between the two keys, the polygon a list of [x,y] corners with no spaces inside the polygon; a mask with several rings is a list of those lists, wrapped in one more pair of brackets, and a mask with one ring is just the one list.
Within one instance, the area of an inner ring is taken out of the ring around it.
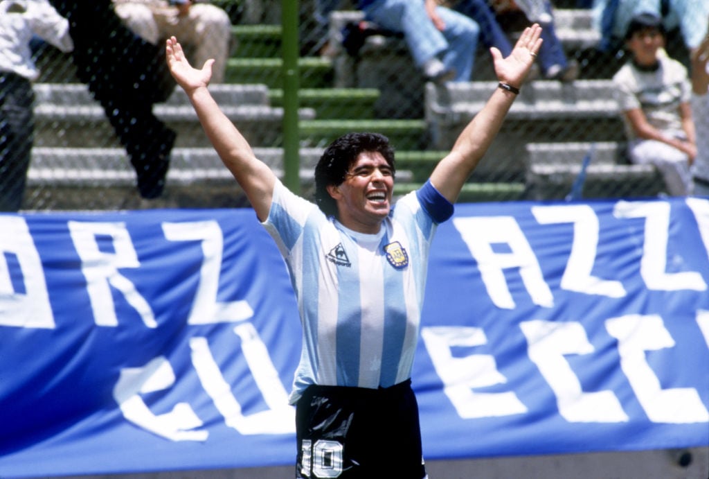
{"label": "white letter A on the blue banner", "polygon": [[[554,306],[552,291],[544,280],[537,257],[513,217],[464,217],[454,219],[453,224],[478,262],[482,280],[497,307],[515,307],[505,281],[505,268],[520,269],[522,280],[535,304]],[[512,252],[495,253],[491,246],[494,243],[506,243]]]}

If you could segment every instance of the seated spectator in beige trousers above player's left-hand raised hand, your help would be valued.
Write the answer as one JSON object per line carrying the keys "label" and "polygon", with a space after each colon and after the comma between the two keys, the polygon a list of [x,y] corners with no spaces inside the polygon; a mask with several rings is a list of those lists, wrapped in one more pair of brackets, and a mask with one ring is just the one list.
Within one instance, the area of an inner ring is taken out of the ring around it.
{"label": "seated spectator in beige trousers above player's left-hand raised hand", "polygon": [[113,0],[125,25],[153,45],[179,35],[194,65],[213,58],[213,83],[223,83],[229,56],[231,21],[218,6],[192,0]]}

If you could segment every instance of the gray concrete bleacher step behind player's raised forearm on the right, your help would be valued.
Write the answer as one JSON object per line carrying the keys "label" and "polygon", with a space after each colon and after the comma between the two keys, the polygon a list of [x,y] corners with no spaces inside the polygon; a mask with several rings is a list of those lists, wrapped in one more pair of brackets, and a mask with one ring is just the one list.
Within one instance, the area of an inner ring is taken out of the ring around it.
{"label": "gray concrete bleacher step behind player's raised forearm on the right", "polygon": [[[430,148],[452,148],[496,87],[496,82],[427,85]],[[612,92],[610,80],[525,84],[474,175],[482,181],[524,181],[527,143],[623,141],[623,119]]]}

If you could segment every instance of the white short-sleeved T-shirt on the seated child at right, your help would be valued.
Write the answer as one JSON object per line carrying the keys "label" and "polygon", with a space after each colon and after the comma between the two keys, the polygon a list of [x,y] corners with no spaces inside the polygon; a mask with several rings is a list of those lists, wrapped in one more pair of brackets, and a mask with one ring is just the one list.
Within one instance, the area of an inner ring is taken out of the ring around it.
{"label": "white short-sleeved T-shirt on the seated child at right", "polygon": [[[647,121],[659,131],[681,132],[679,105],[689,101],[691,88],[686,68],[678,61],[661,55],[659,68],[639,70],[628,62],[613,76],[615,98],[621,111],[640,108]],[[635,140],[635,132],[625,120],[625,135]]]}

